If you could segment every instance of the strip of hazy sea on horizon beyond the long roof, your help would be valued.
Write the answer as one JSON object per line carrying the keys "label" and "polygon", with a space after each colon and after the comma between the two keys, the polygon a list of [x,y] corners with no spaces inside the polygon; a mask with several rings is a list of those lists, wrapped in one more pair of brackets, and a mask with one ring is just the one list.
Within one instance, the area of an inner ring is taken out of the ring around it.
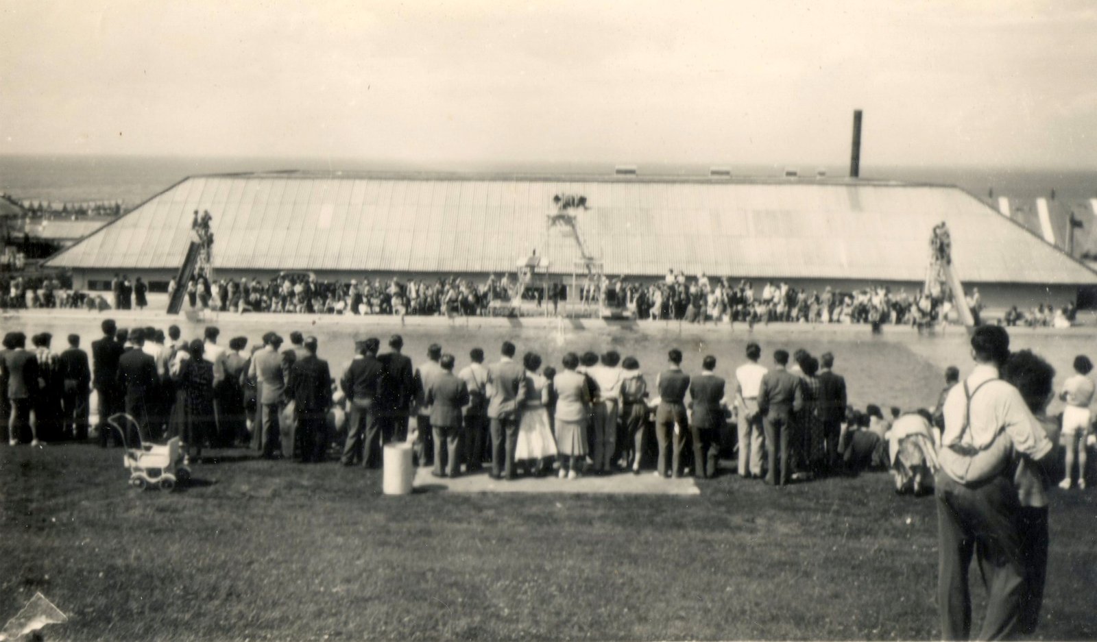
{"label": "strip of hazy sea on horizon beyond the long roof", "polygon": [[[847,175],[846,165],[819,167],[720,164],[736,176],[776,177],[795,168],[801,176],[814,176],[823,169],[828,176]],[[708,164],[638,163],[641,175],[704,176]],[[513,174],[606,175],[613,163],[422,163],[409,164],[352,158],[245,158],[245,157],[144,157],[144,156],[0,156],[0,192],[16,199],[78,203],[121,200],[126,206],[142,202],[194,174],[238,173],[276,170],[320,171],[443,171],[497,172]],[[1011,198],[1048,196],[1054,190],[1061,198],[1097,197],[1097,171],[983,168],[983,167],[875,167],[862,163],[864,179],[890,179],[957,185],[981,198],[994,195]]]}

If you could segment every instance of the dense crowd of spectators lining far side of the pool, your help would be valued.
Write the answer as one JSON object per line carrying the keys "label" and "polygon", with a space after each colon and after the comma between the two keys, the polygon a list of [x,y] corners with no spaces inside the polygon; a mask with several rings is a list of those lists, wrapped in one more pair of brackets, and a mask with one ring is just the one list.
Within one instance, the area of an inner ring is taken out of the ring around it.
{"label": "dense crowd of spectators lining far side of the pool", "polygon": [[[325,280],[307,272],[283,273],[276,277],[192,277],[184,285],[185,307],[225,312],[278,312],[309,314],[396,314],[396,316],[488,316],[491,303],[507,303],[501,313],[512,312],[517,289],[514,275],[489,276],[484,282],[450,276],[433,279],[370,278]],[[177,288],[168,286],[169,296]],[[638,320],[686,323],[858,323],[871,325],[915,325],[939,323],[952,309],[948,298],[925,290],[898,291],[874,286],[853,291],[826,287],[823,291],[796,288],[784,282],[753,282],[704,274],[687,278],[668,272],[658,283],[641,283],[623,276],[595,276],[577,282],[578,300],[588,310],[611,308]],[[566,301],[568,285],[553,283],[525,287],[521,299],[536,307],[548,305],[553,313]],[[71,288],[64,275],[11,276],[0,278],[0,307],[142,309],[147,306],[148,285],[140,277],[114,275],[110,295]],[[976,320],[983,310],[979,288],[968,297]],[[572,310],[574,312],[574,310]],[[1077,309],[1072,302],[1055,308],[1040,303],[1027,312],[1016,306],[1002,319],[1005,325],[1064,328],[1074,323]]]}

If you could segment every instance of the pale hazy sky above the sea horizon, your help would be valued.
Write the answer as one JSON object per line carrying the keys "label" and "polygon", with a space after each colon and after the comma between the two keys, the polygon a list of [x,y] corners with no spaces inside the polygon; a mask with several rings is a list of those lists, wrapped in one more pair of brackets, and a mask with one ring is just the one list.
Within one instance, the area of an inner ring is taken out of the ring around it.
{"label": "pale hazy sky above the sea horizon", "polygon": [[0,0],[0,154],[1097,167],[1097,3]]}

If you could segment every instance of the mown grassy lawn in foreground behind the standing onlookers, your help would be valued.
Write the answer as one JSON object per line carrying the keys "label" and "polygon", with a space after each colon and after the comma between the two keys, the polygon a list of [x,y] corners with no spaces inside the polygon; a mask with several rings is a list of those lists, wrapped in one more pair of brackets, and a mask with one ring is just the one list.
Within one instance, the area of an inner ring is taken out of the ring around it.
{"label": "mown grassy lawn in foreground behind the standing onlookers", "polygon": [[[121,450],[0,447],[0,617],[41,591],[68,640],[938,635],[934,500],[884,474],[387,497],[377,472],[223,455],[169,494],[129,490]],[[1054,494],[1041,638],[1097,638],[1093,497]]]}

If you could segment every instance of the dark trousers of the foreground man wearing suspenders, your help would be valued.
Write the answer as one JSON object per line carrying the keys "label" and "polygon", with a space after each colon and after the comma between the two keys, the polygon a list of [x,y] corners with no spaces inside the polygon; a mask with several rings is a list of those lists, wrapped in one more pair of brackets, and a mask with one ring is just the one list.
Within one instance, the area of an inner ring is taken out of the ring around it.
{"label": "dark trousers of the foreground man wearing suspenders", "polygon": [[998,475],[969,488],[937,473],[939,570],[937,605],[941,638],[971,635],[968,570],[974,555],[986,586],[986,614],[980,640],[1015,638],[1019,632],[1025,566],[1013,480]]}

